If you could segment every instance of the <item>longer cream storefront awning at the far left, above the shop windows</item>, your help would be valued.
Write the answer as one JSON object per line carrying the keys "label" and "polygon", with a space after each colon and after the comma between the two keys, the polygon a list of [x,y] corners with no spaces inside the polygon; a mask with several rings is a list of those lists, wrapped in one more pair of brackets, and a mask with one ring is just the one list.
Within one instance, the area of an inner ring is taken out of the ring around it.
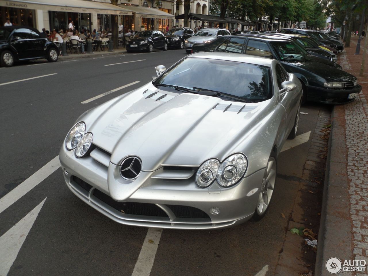
{"label": "longer cream storefront awning at the far left, above the shop windows", "polygon": [[12,0],[0,1],[0,6],[72,13],[132,15],[131,11],[113,4],[84,0]]}

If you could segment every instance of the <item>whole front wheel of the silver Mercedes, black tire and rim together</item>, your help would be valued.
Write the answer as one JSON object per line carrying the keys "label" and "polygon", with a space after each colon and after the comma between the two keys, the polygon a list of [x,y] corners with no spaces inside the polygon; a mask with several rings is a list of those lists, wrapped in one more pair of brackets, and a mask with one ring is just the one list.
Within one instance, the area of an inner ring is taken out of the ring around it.
{"label": "whole front wheel of the silver Mercedes, black tire and rim together", "polygon": [[261,190],[259,191],[258,201],[252,220],[261,220],[268,211],[269,204],[272,199],[273,190],[275,189],[277,176],[277,161],[275,152],[271,152],[262,179]]}

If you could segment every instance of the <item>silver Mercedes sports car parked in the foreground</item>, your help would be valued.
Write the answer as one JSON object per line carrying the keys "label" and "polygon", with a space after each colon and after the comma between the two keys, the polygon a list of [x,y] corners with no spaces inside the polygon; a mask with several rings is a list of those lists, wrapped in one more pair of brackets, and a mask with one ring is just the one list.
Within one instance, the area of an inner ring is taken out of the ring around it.
{"label": "silver Mercedes sports car parked in the foreground", "polygon": [[212,229],[268,209],[301,84],[272,59],[195,53],[78,118],[60,150],[67,186],[114,221]]}

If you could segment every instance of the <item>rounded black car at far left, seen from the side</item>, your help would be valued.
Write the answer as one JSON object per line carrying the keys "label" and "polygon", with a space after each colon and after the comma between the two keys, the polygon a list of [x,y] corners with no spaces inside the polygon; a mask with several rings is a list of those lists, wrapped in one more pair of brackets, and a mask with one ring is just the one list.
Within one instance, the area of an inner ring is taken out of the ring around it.
{"label": "rounded black car at far left, seen from the side", "polygon": [[0,65],[13,66],[17,61],[47,59],[55,62],[60,48],[34,28],[7,26],[0,28]]}

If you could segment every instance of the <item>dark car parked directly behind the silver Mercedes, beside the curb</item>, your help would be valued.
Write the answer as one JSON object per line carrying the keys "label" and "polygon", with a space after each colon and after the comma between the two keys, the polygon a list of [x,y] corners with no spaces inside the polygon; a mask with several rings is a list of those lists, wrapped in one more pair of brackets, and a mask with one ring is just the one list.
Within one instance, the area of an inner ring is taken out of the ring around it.
{"label": "dark car parked directly behind the silver Mercedes, beside the curb", "polygon": [[290,39],[237,35],[222,36],[206,45],[194,46],[193,52],[230,52],[276,59],[301,81],[304,101],[338,104],[350,102],[358,96],[362,87],[358,85],[357,78],[316,61],[316,57],[305,54],[301,49]]}

